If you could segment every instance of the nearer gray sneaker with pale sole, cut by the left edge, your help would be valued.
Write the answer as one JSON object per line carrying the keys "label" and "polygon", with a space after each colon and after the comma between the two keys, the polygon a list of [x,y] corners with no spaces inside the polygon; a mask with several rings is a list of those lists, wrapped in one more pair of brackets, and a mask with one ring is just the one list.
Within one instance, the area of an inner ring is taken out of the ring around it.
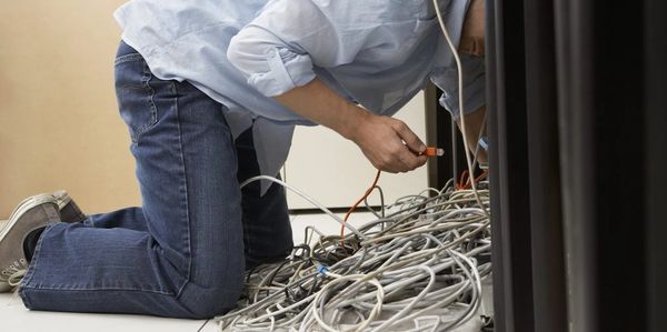
{"label": "nearer gray sneaker with pale sole, cut by the left edge", "polygon": [[23,200],[11,213],[0,232],[0,292],[17,286],[26,271],[28,260],[23,240],[33,230],[60,221],[58,201],[52,194],[37,194]]}

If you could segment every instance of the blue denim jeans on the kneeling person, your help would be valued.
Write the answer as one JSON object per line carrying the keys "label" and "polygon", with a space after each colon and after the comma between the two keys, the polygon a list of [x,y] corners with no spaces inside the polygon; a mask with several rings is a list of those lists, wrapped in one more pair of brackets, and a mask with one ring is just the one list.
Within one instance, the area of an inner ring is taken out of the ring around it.
{"label": "blue denim jeans on the kneeling person", "polygon": [[49,225],[19,288],[33,310],[205,319],[236,305],[246,268],[292,248],[285,190],[259,183],[251,130],[236,141],[225,105],[155,78],[121,43],[116,91],[137,161],[141,208]]}

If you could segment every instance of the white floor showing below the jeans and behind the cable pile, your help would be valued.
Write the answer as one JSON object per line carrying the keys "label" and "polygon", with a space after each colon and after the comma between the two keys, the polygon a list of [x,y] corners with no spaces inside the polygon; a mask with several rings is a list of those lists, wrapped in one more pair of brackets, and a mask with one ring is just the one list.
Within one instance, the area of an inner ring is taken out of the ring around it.
{"label": "white floor showing below the jeans and behind the cable pile", "polygon": [[[340,232],[340,224],[326,214],[292,215],[295,243],[303,241],[307,225],[316,227],[327,234]],[[370,213],[358,213],[350,218],[350,224],[359,225],[374,217]],[[0,228],[1,228],[0,221]],[[21,299],[14,294],[0,294],[0,329],[2,331],[22,332],[213,332],[218,331],[215,322],[195,320],[175,320],[129,314],[92,314],[29,311]],[[206,323],[206,324],[205,324]],[[203,328],[202,328],[203,326]],[[201,329],[201,330],[200,330]]]}

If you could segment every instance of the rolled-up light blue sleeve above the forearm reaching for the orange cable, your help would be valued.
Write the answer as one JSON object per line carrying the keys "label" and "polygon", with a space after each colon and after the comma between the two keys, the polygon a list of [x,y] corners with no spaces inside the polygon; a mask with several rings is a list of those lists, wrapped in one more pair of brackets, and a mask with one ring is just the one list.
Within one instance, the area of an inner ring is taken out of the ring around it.
{"label": "rolled-up light blue sleeve above the forearm reaching for the orange cable", "polygon": [[267,97],[315,79],[313,57],[336,53],[337,31],[308,0],[272,1],[231,39],[227,57]]}

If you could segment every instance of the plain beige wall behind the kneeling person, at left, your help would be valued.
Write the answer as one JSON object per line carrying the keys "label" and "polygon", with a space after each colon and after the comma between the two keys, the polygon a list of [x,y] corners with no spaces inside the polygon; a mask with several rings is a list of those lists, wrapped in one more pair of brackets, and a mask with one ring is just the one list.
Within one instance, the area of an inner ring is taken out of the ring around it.
{"label": "plain beige wall behind the kneeling person, at left", "polygon": [[122,2],[2,1],[0,219],[60,188],[88,212],[140,201],[113,93]]}

